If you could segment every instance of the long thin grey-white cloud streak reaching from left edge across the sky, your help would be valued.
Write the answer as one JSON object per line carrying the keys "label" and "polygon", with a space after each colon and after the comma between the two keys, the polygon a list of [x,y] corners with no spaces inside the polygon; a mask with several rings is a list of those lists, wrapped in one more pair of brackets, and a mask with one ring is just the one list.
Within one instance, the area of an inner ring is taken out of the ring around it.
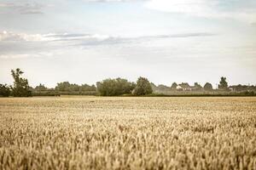
{"label": "long thin grey-white cloud streak reaching from left edge across the sky", "polygon": [[[181,33],[181,34],[170,34],[170,35],[154,35],[154,36],[143,36],[143,37],[114,37],[100,34],[26,34],[26,33],[14,33],[10,31],[0,32],[0,42],[2,41],[24,41],[24,42],[89,42],[96,44],[100,42],[106,43],[119,43],[119,42],[135,42],[135,41],[147,41],[153,39],[164,39],[164,38],[178,38],[178,37],[209,37],[216,36],[217,34],[208,32],[193,32],[193,33]],[[102,44],[102,43],[101,43]]]}

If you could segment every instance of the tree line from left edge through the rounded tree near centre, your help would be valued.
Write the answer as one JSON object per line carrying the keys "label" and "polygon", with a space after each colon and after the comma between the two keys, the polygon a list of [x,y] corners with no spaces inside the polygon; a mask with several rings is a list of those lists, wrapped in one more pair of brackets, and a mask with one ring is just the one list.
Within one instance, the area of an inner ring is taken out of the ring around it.
{"label": "tree line from left edge through the rounded tree near centre", "polygon": [[19,68],[11,71],[14,78],[14,84],[0,84],[0,96],[3,97],[30,97],[30,96],[53,96],[61,94],[73,95],[102,95],[118,96],[124,94],[147,95],[152,94],[153,89],[147,78],[139,77],[137,82],[129,82],[123,78],[106,79],[102,82],[96,82],[95,85],[73,84],[70,82],[59,82],[55,88],[46,88],[44,84],[39,84],[32,88],[29,86],[26,78],[22,77],[23,71]]}

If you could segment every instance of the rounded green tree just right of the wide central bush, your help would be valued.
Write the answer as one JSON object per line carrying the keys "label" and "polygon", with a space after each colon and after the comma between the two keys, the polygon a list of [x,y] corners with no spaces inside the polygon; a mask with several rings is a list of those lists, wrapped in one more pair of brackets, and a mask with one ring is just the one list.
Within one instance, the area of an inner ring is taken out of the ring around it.
{"label": "rounded green tree just right of the wide central bush", "polygon": [[147,95],[152,94],[153,89],[151,87],[151,83],[148,81],[147,78],[139,77],[137,79],[137,85],[132,91],[133,95],[141,96],[141,95]]}

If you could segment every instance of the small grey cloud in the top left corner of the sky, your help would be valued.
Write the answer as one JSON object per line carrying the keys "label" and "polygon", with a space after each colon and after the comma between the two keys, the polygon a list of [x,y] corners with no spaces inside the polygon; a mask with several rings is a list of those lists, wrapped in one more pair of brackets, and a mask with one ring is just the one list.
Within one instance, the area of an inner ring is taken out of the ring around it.
{"label": "small grey cloud in the top left corner of the sky", "polygon": [[0,8],[9,8],[18,11],[20,14],[43,14],[44,5],[32,3],[0,3]]}

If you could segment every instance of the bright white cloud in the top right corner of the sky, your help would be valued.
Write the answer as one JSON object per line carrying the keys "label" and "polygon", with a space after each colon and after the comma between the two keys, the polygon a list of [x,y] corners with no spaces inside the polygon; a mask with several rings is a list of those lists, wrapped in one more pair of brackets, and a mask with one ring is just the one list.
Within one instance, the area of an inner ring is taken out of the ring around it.
{"label": "bright white cloud in the top right corner of the sky", "polygon": [[235,18],[247,21],[255,20],[256,17],[254,0],[151,0],[145,3],[145,7],[167,13],[199,17]]}

